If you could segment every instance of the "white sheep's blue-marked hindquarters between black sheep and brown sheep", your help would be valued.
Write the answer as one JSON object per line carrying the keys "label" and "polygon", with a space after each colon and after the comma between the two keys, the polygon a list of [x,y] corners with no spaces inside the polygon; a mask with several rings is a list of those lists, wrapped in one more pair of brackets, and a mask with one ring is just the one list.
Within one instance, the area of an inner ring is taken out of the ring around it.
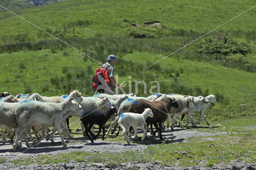
{"label": "white sheep's blue-marked hindquarters between black sheep and brown sheep", "polygon": [[[117,112],[118,116],[116,116],[116,119],[115,119],[113,122],[111,122],[111,124],[110,124],[110,126],[109,126],[109,128],[108,128],[108,131],[106,132],[106,135],[105,135],[105,137],[104,137],[105,139],[108,137],[108,134],[110,133],[112,127],[113,127],[114,125],[118,125],[117,123],[118,123],[118,120],[119,120],[121,114],[124,113],[124,112],[127,112],[129,105],[130,105],[133,101],[134,101],[134,99],[128,98],[128,99],[124,100],[124,101],[121,103],[120,107],[118,108],[118,112]],[[114,134],[115,131],[116,131],[116,127],[112,130],[111,134]]]}

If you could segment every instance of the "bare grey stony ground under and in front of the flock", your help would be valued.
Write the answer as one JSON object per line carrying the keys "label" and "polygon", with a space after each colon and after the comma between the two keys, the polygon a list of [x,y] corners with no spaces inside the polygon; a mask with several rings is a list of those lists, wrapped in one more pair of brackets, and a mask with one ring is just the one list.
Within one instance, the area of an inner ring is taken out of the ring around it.
{"label": "bare grey stony ground under and in front of the flock", "polygon": [[[166,130],[163,132],[163,137],[166,139],[166,143],[173,142],[187,142],[187,138],[193,136],[214,136],[219,135],[228,135],[232,132],[218,132],[218,133],[200,133],[194,130],[182,130],[176,129],[174,131]],[[150,135],[150,133],[148,133]],[[157,139],[157,137],[155,137]],[[32,164],[25,166],[16,166],[14,163],[10,163],[10,160],[17,160],[19,158],[26,157],[35,157],[44,154],[58,154],[71,151],[85,151],[85,152],[123,152],[127,150],[144,150],[150,144],[149,140],[144,140],[140,144],[131,144],[127,145],[124,143],[108,142],[102,141],[100,139],[96,140],[94,143],[91,143],[87,138],[78,137],[72,140],[66,140],[68,147],[62,147],[60,138],[58,136],[54,137],[55,144],[51,144],[49,141],[45,140],[39,144],[36,148],[27,148],[23,143],[22,148],[17,148],[16,152],[12,152],[12,144],[9,141],[0,140],[0,159],[7,159],[6,162],[0,164],[0,170],[5,169],[26,169],[26,170],[62,170],[62,169],[81,169],[81,170],[94,170],[94,169],[116,169],[116,170],[130,170],[130,169],[141,169],[141,170],[151,170],[151,169],[168,169],[168,170],[256,170],[255,164],[248,164],[243,161],[233,161],[226,165],[216,165],[215,167],[206,167],[206,166],[190,166],[190,167],[180,167],[178,165],[161,165],[159,162],[129,162],[121,164],[88,164],[87,162],[78,162],[78,163],[60,163],[60,164]],[[158,138],[159,140],[159,138]]]}

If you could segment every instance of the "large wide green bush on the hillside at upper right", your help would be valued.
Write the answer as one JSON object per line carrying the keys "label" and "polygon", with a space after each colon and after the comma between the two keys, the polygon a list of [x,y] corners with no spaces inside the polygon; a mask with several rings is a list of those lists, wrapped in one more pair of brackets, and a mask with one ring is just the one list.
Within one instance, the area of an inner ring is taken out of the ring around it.
{"label": "large wide green bush on the hillside at upper right", "polygon": [[224,36],[210,36],[202,38],[196,44],[196,52],[211,53],[211,54],[243,54],[246,55],[251,52],[250,46],[246,42],[238,42],[231,37]]}

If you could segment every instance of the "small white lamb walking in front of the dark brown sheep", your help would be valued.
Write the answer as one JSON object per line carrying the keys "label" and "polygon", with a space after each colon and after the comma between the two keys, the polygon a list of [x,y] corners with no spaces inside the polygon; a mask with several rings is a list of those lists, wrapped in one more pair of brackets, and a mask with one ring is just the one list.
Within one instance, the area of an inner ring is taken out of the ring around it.
{"label": "small white lamb walking in front of the dark brown sheep", "polygon": [[138,135],[137,128],[141,128],[143,130],[143,137],[141,140],[144,140],[146,135],[146,118],[150,116],[153,117],[152,110],[150,108],[146,108],[145,111],[142,114],[138,113],[129,113],[125,112],[121,114],[118,125],[120,128],[122,128],[122,135],[124,135],[124,138],[128,144],[130,144],[130,138],[127,136],[127,132],[130,128],[130,126],[133,127],[135,134],[133,138],[135,138]]}

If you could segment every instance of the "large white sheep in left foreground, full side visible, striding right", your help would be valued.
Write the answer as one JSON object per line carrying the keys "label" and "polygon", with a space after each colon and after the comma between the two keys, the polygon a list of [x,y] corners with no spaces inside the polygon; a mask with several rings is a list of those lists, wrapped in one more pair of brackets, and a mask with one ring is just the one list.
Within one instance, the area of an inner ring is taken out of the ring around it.
{"label": "large white sheep in left foreground, full side visible, striding right", "polygon": [[[83,112],[82,109],[79,110],[74,98],[67,98],[60,103],[42,103],[29,100],[21,102],[16,110],[16,120],[19,128],[16,131],[16,138],[12,150],[15,152],[18,140],[24,134],[28,126],[42,126],[42,128],[44,128],[43,136],[45,136],[45,127],[54,126],[58,130],[63,146],[67,146],[62,137],[60,124],[63,114],[68,110],[72,110],[73,112],[80,111],[81,114]],[[42,140],[42,138],[40,140]],[[38,143],[41,142],[40,140]],[[29,144],[27,146],[29,147]]]}

